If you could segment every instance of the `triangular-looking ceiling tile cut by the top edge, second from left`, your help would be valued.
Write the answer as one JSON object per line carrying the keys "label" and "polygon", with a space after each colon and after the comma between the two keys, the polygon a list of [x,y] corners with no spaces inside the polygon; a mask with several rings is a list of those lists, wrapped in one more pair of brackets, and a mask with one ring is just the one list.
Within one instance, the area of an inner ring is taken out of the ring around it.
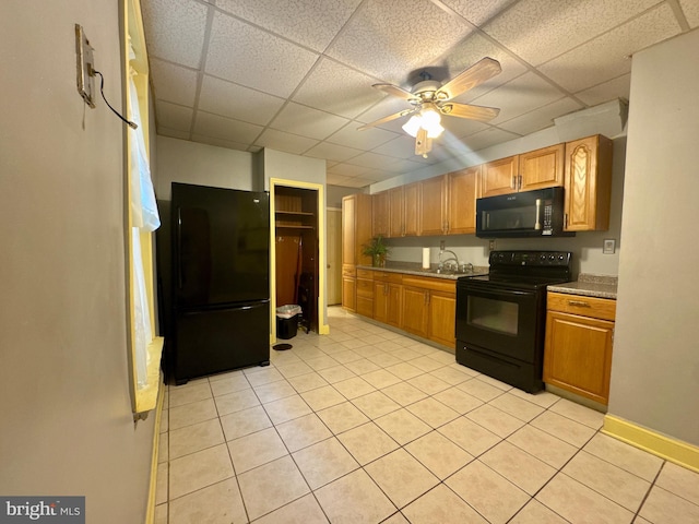
{"label": "triangular-looking ceiling tile cut by the top edge, second from left", "polygon": [[362,0],[217,0],[216,7],[289,40],[324,50]]}

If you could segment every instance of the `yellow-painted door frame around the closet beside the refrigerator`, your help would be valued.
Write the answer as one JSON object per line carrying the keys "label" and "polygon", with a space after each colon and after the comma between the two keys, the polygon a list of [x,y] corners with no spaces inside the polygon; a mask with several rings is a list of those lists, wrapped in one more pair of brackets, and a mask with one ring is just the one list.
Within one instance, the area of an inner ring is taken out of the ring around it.
{"label": "yellow-painted door frame around the closet beside the refrigerator", "polygon": [[270,343],[276,342],[276,223],[275,223],[275,192],[276,187],[310,189],[318,193],[317,199],[317,223],[318,223],[318,334],[330,333],[328,325],[328,305],[325,297],[325,187],[322,183],[303,182],[299,180],[287,180],[284,178],[270,178]]}

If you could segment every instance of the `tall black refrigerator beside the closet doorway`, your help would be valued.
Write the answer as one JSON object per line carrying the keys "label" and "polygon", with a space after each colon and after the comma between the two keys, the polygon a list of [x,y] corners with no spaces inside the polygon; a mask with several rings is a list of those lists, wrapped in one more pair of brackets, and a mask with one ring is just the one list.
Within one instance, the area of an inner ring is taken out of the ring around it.
{"label": "tall black refrigerator beside the closet doorway", "polygon": [[270,195],[173,182],[176,384],[270,364]]}

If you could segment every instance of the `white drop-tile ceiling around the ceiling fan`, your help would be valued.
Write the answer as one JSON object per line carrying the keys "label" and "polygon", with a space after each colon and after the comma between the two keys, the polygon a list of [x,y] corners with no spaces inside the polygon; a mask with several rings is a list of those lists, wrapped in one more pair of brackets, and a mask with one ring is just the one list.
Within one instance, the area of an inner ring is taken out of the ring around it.
{"label": "white drop-tile ceiling around the ceiling fan", "polygon": [[[327,183],[362,188],[629,98],[640,49],[699,26],[698,0],[141,0],[157,133],[327,159]],[[406,109],[371,84],[410,91],[483,57],[502,72],[457,102],[499,107],[483,123],[442,118],[427,158]],[[631,100],[632,103],[632,100]]]}

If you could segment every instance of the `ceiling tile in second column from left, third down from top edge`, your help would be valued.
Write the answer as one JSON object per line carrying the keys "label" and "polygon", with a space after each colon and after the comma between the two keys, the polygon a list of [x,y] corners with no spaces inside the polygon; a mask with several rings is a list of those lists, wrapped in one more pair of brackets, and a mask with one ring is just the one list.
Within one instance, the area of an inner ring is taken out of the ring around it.
{"label": "ceiling tile in second column from left, third down from top edge", "polygon": [[206,112],[266,126],[283,105],[284,98],[203,75],[199,109]]}

